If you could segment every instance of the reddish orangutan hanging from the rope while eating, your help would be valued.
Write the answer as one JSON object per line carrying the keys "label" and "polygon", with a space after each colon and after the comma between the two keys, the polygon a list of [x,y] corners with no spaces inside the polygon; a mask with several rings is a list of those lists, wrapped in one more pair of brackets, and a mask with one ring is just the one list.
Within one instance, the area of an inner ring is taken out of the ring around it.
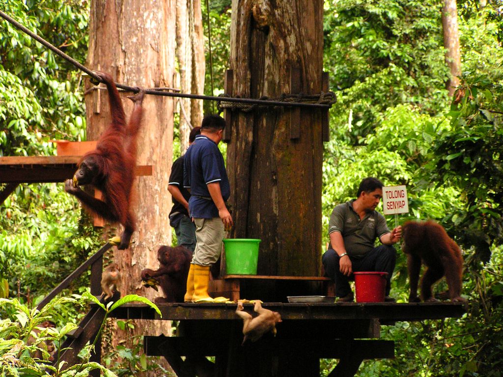
{"label": "reddish orangutan hanging from the rope while eating", "polygon": [[[129,247],[135,231],[135,219],[130,209],[131,187],[136,166],[136,138],[142,118],[144,91],[128,97],[134,102],[129,124],[112,77],[95,72],[108,89],[112,122],[98,139],[96,149],[82,156],[72,179],[65,181],[65,191],[77,197],[91,214],[124,226],[119,250]],[[103,200],[80,190],[78,185],[90,184],[100,190]]]}

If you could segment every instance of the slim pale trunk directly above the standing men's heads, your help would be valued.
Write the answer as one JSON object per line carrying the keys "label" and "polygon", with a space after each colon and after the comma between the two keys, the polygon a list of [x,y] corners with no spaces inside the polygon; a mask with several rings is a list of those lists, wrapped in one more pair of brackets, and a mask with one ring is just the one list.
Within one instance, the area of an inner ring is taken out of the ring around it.
{"label": "slim pale trunk directly above the standing men's heads", "polygon": [[[183,93],[202,94],[204,89],[204,43],[201,0],[177,0],[177,59],[180,89]],[[189,145],[191,124],[201,124],[203,103],[200,100],[179,99],[181,152]]]}

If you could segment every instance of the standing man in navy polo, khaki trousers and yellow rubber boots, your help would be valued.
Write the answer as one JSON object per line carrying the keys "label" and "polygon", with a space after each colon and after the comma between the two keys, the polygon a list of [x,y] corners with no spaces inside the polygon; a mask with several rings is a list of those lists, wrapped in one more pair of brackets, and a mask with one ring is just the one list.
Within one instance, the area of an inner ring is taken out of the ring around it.
{"label": "standing man in navy polo, khaki trousers and yellow rubber boots", "polygon": [[225,230],[233,225],[225,201],[230,185],[223,156],[218,149],[225,121],[207,115],[201,134],[185,153],[184,186],[190,188],[189,213],[196,225],[196,249],[187,278],[185,302],[212,302],[208,295],[210,266],[220,256]]}

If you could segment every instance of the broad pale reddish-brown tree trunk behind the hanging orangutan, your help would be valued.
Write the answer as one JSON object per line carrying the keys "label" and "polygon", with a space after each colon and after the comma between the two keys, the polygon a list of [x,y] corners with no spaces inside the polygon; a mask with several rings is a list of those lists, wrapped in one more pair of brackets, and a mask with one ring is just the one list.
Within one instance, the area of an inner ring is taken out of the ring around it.
{"label": "broad pale reddish-brown tree trunk behind the hanging orangutan", "polygon": [[[88,66],[109,72],[117,82],[131,86],[173,86],[175,14],[175,0],[92,0]],[[126,116],[132,111],[131,101],[125,98],[128,94],[131,93],[121,94]],[[142,287],[140,271],[158,264],[159,245],[171,244],[167,218],[171,196],[166,187],[172,164],[173,100],[146,96],[143,107],[137,163],[152,165],[153,173],[135,180],[133,212],[137,216],[137,230],[132,237],[135,243],[128,250],[115,250],[113,259],[123,272],[121,294],[138,294],[152,300],[155,291]],[[96,140],[110,123],[107,91],[92,91],[86,97],[86,109],[88,139]],[[161,321],[148,321],[137,328],[141,334],[167,331]],[[114,335],[113,344],[124,340],[119,330]]]}

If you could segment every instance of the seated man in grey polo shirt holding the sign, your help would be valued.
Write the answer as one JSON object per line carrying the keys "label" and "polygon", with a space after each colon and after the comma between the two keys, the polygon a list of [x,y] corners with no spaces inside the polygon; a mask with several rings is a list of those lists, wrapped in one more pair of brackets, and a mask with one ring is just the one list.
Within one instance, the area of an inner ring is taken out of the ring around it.
{"label": "seated man in grey polo shirt holding the sign", "polygon": [[[337,206],[330,215],[330,245],[321,260],[325,275],[336,282],[338,301],[353,301],[348,280],[356,271],[387,272],[385,301],[394,301],[389,297],[396,261],[392,245],[400,239],[402,227],[390,232],[384,216],[375,210],[382,198],[382,186],[377,178],[363,179],[357,199]],[[382,245],[374,247],[376,238]]]}

